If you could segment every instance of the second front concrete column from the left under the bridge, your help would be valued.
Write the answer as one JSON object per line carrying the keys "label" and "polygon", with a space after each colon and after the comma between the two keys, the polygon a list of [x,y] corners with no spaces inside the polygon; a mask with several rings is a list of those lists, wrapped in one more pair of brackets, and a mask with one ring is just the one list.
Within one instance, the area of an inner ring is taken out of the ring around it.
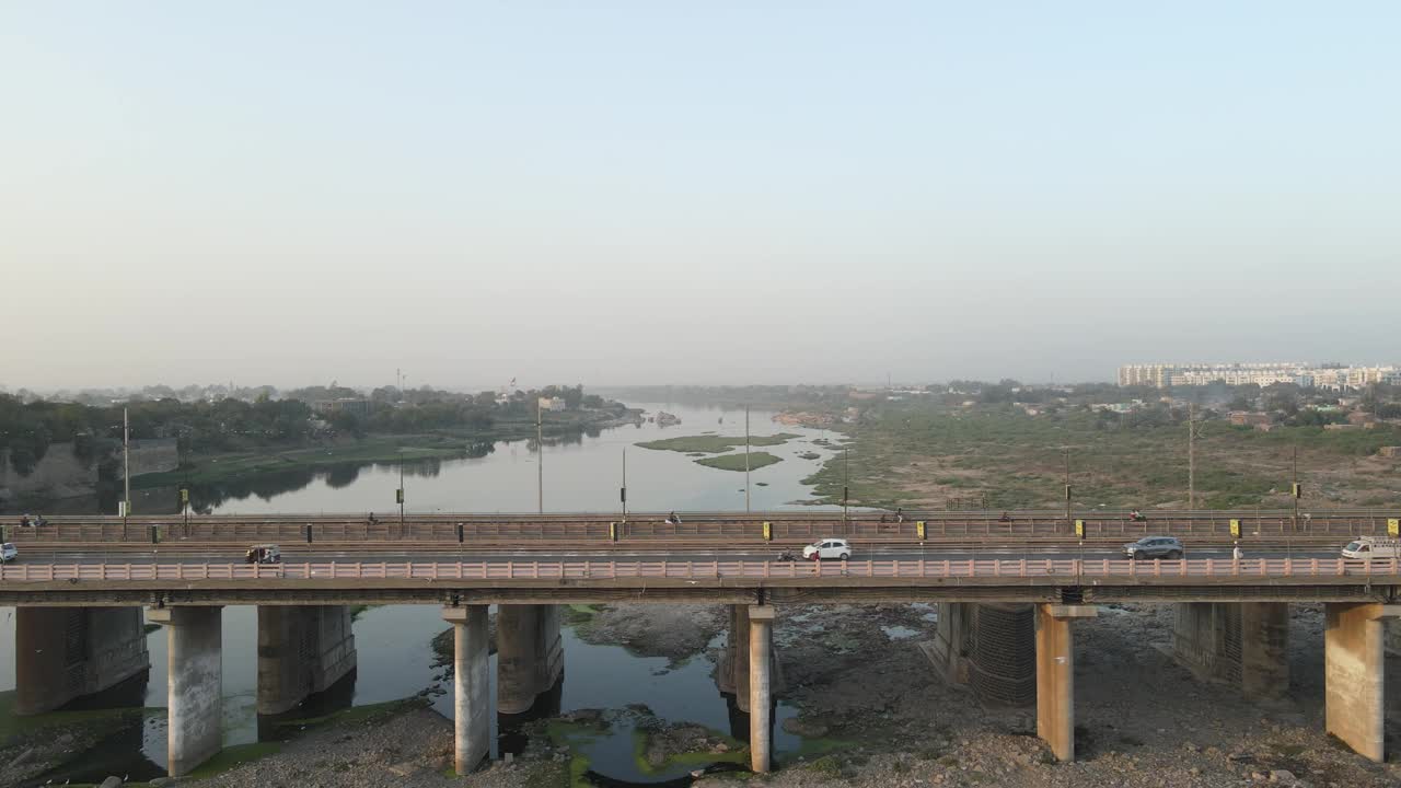
{"label": "second front concrete column from the left under the bridge", "polygon": [[486,606],[444,607],[443,618],[453,624],[453,768],[464,775],[492,746]]}

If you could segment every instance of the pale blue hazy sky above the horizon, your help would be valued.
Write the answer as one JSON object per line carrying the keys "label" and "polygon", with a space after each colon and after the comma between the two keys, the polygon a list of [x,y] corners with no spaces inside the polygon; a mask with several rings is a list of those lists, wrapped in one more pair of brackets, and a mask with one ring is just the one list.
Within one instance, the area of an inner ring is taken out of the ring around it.
{"label": "pale blue hazy sky above the horizon", "polygon": [[0,383],[1398,362],[1401,4],[0,0]]}

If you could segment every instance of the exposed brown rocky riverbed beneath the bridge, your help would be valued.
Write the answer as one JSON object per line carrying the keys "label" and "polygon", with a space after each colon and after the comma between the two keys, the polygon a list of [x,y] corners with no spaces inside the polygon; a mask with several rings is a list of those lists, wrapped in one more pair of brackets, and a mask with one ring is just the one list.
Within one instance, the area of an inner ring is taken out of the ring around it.
{"label": "exposed brown rocky riverbed beneath the bridge", "polygon": [[[1164,653],[1171,606],[1108,606],[1076,624],[1079,760],[1055,763],[1035,738],[1034,709],[986,708],[939,679],[919,642],[932,637],[930,606],[780,609],[775,625],[783,697],[800,709],[783,728],[804,750],[752,781],[778,788],[1394,788],[1401,763],[1373,764],[1323,733],[1323,610],[1296,604],[1289,694],[1250,702],[1205,684]],[[576,610],[590,642],[671,660],[719,658],[720,606],[618,606]],[[567,660],[567,658],[566,658]],[[1390,659],[1393,676],[1401,660]],[[1388,691],[1391,749],[1401,750],[1401,683]],[[747,763],[741,742],[699,725],[667,724],[644,705],[580,709],[530,728],[525,752],[462,780],[448,777],[451,722],[422,705],[352,714],[308,731],[277,754],[200,785],[489,788],[569,785],[590,768],[574,745],[615,726],[633,731],[639,768]],[[13,757],[13,756],[11,756]],[[1395,759],[1395,756],[1393,756]],[[6,773],[10,774],[10,773]],[[708,774],[702,788],[736,774]]]}

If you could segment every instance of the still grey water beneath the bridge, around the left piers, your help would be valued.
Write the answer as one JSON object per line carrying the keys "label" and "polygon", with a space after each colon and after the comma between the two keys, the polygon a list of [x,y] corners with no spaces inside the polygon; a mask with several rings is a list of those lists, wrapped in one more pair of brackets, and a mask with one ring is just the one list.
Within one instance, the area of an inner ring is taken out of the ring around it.
{"label": "still grey water beneath the bridge, around the left piers", "polygon": [[[8,635],[13,638],[14,617],[6,610]],[[255,708],[256,653],[244,648],[256,632],[256,609],[224,609],[224,746],[259,740],[259,716]],[[434,606],[389,606],[364,611],[354,623],[359,666],[353,677],[311,698],[286,718],[315,718],[338,708],[377,704],[430,691],[433,708],[444,716],[453,715],[451,683],[441,667],[433,667],[430,648],[433,635],[447,624]],[[691,722],[712,728],[737,739],[748,736],[747,718],[736,715],[733,702],[716,690],[712,676],[715,663],[706,655],[682,665],[668,666],[665,658],[639,658],[612,645],[591,645],[574,637],[572,628],[562,631],[565,642],[565,676],[553,697],[542,698],[542,714],[559,714],[586,708],[616,709],[642,704],[665,722]],[[724,635],[713,648],[724,645]],[[101,782],[109,774],[129,774],[132,780],[150,780],[165,774],[165,632],[147,635],[151,672],[144,686],[144,705],[151,714],[140,733],[125,732],[99,743],[94,750],[66,767],[57,768],[32,785],[48,780],[62,782]],[[0,670],[11,677],[4,687],[13,690],[13,649],[0,660]],[[492,686],[496,686],[496,658],[492,656]],[[493,695],[495,697],[495,695]],[[558,702],[558,707],[555,704]],[[493,700],[495,707],[495,700]],[[775,718],[775,752],[796,752],[801,740],[782,729],[782,721],[797,712],[779,702]],[[493,708],[493,757],[503,750],[521,752],[525,739],[513,729],[497,729]],[[277,740],[284,731],[262,719],[262,739]],[[583,745],[594,771],[614,785],[656,782],[684,778],[698,766],[679,766],[667,771],[643,773],[633,759],[633,728],[626,719],[615,724],[597,740]]]}

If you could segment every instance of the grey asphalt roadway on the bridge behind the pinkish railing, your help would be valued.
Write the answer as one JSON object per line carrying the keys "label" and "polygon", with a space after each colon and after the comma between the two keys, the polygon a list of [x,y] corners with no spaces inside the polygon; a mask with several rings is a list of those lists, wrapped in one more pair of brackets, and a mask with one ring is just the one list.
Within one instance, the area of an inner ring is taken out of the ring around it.
{"label": "grey asphalt roadway on the bridge behind the pinkish railing", "polygon": [[[305,545],[283,545],[282,558],[283,562],[289,564],[303,564],[303,562],[328,562],[328,561],[346,561],[346,562],[364,562],[364,564],[378,564],[378,562],[413,562],[413,564],[455,564],[455,562],[486,562],[486,564],[504,564],[504,562],[521,562],[521,561],[541,561],[541,562],[559,562],[559,561],[776,561],[779,550],[492,550],[482,551],[475,550],[471,545],[464,545],[460,550],[443,550],[441,547],[425,547],[419,550],[374,550],[374,548],[357,548],[357,550],[317,550],[314,547],[308,548]],[[1320,558],[1332,559],[1338,558],[1338,550],[1320,550],[1317,547],[1310,548],[1290,548],[1288,545],[1271,545],[1268,548],[1252,547],[1247,550],[1245,558]],[[1066,561],[1073,558],[1082,558],[1086,561],[1121,561],[1125,558],[1122,548],[1107,548],[1107,547],[1037,547],[1037,548],[1020,548],[1020,547],[979,547],[972,548],[950,548],[950,547],[934,547],[930,545],[925,550],[912,547],[881,547],[862,550],[856,545],[856,552],[852,555],[852,561],[968,561],[968,559],[1020,559],[1027,561],[1044,561],[1056,559]],[[1191,559],[1217,559],[1230,561],[1231,550],[1230,547],[1202,547],[1191,548],[1188,545],[1187,558]],[[242,562],[244,550],[238,547],[219,547],[210,545],[199,552],[191,552],[188,550],[179,551],[163,551],[158,547],[151,551],[134,551],[129,547],[125,550],[113,551],[99,551],[99,550],[53,550],[48,548],[34,548],[32,554],[21,554],[20,561],[24,564],[209,564],[209,562]],[[829,561],[829,564],[838,564],[838,561]]]}

